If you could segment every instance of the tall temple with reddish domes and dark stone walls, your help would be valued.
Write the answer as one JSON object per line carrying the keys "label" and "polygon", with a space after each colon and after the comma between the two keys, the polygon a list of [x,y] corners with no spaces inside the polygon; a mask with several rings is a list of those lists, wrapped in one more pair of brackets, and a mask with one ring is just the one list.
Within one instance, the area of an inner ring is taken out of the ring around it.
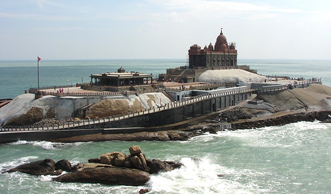
{"label": "tall temple with reddish domes and dark stone walls", "polygon": [[224,69],[224,67],[237,66],[237,50],[235,44],[230,46],[224,36],[222,29],[221,34],[217,37],[215,47],[212,43],[201,49],[199,45],[193,45],[189,50],[189,68],[211,68]]}

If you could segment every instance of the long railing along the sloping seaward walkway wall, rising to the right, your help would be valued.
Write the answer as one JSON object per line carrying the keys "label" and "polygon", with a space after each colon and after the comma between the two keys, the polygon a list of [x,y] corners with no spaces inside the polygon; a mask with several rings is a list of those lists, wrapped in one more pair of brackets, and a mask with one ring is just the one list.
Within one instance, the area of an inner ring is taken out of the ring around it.
{"label": "long railing along the sloping seaward walkway wall, rising to the right", "polygon": [[68,129],[73,127],[79,127],[79,126],[85,126],[85,125],[91,125],[91,124],[98,124],[98,123],[104,123],[104,122],[111,122],[115,120],[120,120],[124,118],[130,118],[134,116],[149,114],[152,112],[162,111],[165,109],[171,109],[176,108],[180,106],[186,106],[188,104],[196,103],[199,101],[203,101],[209,98],[215,98],[220,96],[229,96],[234,94],[241,94],[241,93],[249,93],[249,92],[255,92],[256,89],[246,89],[246,90],[240,90],[240,91],[231,91],[231,92],[224,92],[224,93],[218,93],[218,94],[204,94],[199,96],[194,96],[191,99],[183,99],[180,101],[175,101],[167,104],[163,104],[161,106],[155,107],[149,109],[144,109],[144,111],[136,111],[136,112],[130,112],[125,113],[121,115],[115,115],[115,116],[108,116],[108,117],[102,117],[98,119],[88,119],[88,120],[81,120],[81,121],[69,121],[66,124],[62,125],[54,125],[54,126],[46,126],[46,127],[34,127],[34,126],[8,126],[6,128],[1,128],[1,132],[5,131],[39,131],[39,130],[60,130],[60,129]]}

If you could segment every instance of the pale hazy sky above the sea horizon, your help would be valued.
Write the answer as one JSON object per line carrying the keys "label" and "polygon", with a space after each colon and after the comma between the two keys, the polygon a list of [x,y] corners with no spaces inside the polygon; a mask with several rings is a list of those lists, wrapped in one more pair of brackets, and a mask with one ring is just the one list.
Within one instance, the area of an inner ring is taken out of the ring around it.
{"label": "pale hazy sky above the sea horizon", "polygon": [[329,0],[0,0],[0,60],[186,59],[221,28],[240,59],[331,59]]}

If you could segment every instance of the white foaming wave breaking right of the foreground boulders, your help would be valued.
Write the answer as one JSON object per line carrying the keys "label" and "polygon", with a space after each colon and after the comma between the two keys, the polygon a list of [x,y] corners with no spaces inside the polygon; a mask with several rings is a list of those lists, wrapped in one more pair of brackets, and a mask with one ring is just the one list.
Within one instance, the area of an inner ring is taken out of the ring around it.
{"label": "white foaming wave breaking right of the foreground boulders", "polygon": [[238,177],[247,172],[213,164],[208,158],[183,158],[180,162],[184,164],[180,169],[151,176],[147,183],[151,193],[254,193],[257,190],[262,191],[254,183],[244,184],[238,181],[240,179]]}

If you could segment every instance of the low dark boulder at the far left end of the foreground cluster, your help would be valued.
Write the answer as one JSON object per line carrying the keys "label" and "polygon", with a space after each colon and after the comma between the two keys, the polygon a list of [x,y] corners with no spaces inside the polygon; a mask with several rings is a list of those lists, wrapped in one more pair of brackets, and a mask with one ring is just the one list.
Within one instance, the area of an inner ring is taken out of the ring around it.
{"label": "low dark boulder at the far left end of the foreground cluster", "polygon": [[24,172],[32,175],[49,175],[55,170],[55,161],[52,159],[44,159],[29,162],[26,164],[19,165],[15,168],[12,168],[6,172]]}

